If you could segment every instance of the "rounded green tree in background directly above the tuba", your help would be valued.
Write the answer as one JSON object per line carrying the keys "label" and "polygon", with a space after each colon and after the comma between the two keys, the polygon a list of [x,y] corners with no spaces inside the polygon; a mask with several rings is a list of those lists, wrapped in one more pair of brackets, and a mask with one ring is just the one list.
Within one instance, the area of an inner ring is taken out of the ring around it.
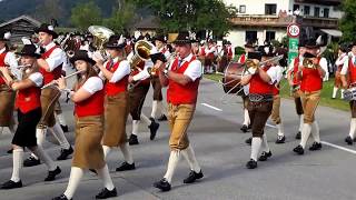
{"label": "rounded green tree in background directly above the tuba", "polygon": [[71,9],[70,21],[75,27],[81,30],[87,30],[92,24],[101,24],[101,10],[93,2],[79,3]]}

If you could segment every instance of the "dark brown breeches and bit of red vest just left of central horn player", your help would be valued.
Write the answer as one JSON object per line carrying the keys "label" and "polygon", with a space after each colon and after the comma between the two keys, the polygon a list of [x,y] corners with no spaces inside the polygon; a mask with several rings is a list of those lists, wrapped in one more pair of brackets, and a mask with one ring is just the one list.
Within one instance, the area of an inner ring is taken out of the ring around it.
{"label": "dark brown breeches and bit of red vest just left of central horn player", "polygon": [[[141,61],[138,63],[138,68],[144,70],[145,62]],[[139,73],[137,69],[131,73],[132,76]],[[141,110],[144,107],[144,102],[146,99],[146,94],[149,90],[150,80],[146,79],[142,81],[139,81],[138,84],[134,87],[134,89],[129,90],[129,108],[130,108],[130,114],[132,117],[132,120],[140,120],[141,118]]]}

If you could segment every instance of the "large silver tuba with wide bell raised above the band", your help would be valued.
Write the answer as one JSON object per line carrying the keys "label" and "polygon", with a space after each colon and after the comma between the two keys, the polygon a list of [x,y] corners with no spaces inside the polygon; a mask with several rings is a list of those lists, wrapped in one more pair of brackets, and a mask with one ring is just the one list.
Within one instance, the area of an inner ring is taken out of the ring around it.
{"label": "large silver tuba with wide bell raised above the band", "polygon": [[102,58],[107,58],[103,49],[103,44],[109,41],[109,38],[115,34],[115,32],[106,27],[101,26],[90,26],[88,31],[92,34],[93,41],[92,46],[100,51]]}

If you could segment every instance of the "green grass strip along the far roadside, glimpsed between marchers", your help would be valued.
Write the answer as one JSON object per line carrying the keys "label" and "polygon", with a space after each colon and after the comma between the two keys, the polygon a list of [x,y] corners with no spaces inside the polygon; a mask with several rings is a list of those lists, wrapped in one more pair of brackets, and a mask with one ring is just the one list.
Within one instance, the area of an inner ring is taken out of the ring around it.
{"label": "green grass strip along the far roadside, glimpsed between marchers", "polygon": [[[204,74],[204,77],[214,81],[219,81],[222,78],[221,74]],[[280,90],[281,97],[286,99],[291,99],[289,86],[286,80],[281,81],[280,88],[281,88]],[[339,99],[340,91],[338,91],[338,97],[337,97],[338,99],[332,99],[333,88],[334,88],[334,78],[330,78],[327,82],[324,82],[323,90],[322,90],[320,104],[325,107],[348,111],[349,110],[348,101],[344,101]]]}

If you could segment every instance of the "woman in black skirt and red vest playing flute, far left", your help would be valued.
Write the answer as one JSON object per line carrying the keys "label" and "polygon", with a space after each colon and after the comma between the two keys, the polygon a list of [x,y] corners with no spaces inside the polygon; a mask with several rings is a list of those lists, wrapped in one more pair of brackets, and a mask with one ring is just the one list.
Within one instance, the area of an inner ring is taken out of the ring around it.
{"label": "woman in black skirt and red vest playing flute, far left", "polygon": [[18,128],[12,139],[12,177],[1,186],[1,189],[21,188],[22,182],[20,171],[23,162],[23,150],[29,148],[32,153],[40,158],[49,169],[44,181],[56,179],[61,170],[55,164],[52,159],[43,151],[41,146],[37,144],[36,127],[41,118],[40,93],[43,82],[43,76],[39,72],[37,59],[40,58],[38,48],[33,44],[26,44],[21,52],[22,64],[29,66],[23,70],[22,80],[14,81],[7,68],[0,68],[6,83],[11,90],[17,91],[16,104],[18,108]]}

